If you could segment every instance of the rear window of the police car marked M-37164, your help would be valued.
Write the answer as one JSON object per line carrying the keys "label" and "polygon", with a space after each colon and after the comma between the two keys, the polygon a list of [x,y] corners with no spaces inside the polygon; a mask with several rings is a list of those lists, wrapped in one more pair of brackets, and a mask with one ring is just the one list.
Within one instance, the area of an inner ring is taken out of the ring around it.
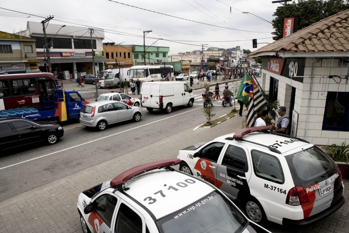
{"label": "rear window of the police car marked M-37164", "polygon": [[309,187],[326,179],[326,174],[337,169],[335,162],[317,146],[285,156],[285,158],[296,186]]}

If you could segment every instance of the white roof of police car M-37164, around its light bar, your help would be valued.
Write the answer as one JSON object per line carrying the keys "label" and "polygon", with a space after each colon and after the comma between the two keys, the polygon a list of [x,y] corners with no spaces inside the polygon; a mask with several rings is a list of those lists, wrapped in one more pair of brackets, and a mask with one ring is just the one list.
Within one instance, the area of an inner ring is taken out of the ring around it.
{"label": "white roof of police car M-37164, around its light bar", "polygon": [[[233,136],[234,136],[234,133],[231,133],[231,134],[218,137],[217,139],[227,140],[226,138],[233,137]],[[312,146],[312,144],[305,143],[303,141],[298,141],[297,139],[294,139],[294,138],[284,137],[284,136],[271,134],[271,133],[263,133],[263,132],[249,133],[244,135],[242,138],[248,141],[252,141],[254,143],[265,145],[265,146],[270,146],[275,144],[274,146],[277,146],[276,150],[280,151],[283,155],[287,155],[284,153],[300,146],[306,146],[306,145]],[[227,140],[227,141],[235,141],[235,140]],[[292,143],[289,143],[290,141],[292,141]],[[280,142],[283,142],[283,143],[280,144]],[[246,141],[240,141],[240,143],[247,146],[248,148],[251,148],[251,145],[263,148],[257,144],[249,143]],[[278,143],[281,146],[276,145],[276,143]]]}

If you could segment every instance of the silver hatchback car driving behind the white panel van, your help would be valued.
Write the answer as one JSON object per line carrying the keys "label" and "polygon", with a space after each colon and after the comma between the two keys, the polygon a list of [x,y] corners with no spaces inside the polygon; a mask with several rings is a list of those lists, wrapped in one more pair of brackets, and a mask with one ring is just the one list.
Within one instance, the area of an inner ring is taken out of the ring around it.
{"label": "silver hatchback car driving behind the white panel van", "polygon": [[103,100],[85,105],[80,112],[80,123],[87,127],[105,130],[107,125],[133,119],[141,120],[143,110],[119,101]]}

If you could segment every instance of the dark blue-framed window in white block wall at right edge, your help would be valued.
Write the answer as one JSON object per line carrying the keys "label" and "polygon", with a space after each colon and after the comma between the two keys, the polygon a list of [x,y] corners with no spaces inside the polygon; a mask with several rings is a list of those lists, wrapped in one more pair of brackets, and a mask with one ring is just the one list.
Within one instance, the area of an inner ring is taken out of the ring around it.
{"label": "dark blue-framed window in white block wall at right edge", "polygon": [[322,129],[349,131],[348,108],[348,92],[328,92]]}

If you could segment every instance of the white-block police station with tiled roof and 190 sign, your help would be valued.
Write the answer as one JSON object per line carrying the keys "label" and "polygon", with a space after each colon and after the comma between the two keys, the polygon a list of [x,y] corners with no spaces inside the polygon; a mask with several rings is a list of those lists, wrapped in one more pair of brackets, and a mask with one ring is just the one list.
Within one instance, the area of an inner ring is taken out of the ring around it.
{"label": "white-block police station with tiled roof and 190 sign", "polygon": [[287,107],[292,136],[349,143],[349,10],[249,55],[262,57],[260,85]]}

